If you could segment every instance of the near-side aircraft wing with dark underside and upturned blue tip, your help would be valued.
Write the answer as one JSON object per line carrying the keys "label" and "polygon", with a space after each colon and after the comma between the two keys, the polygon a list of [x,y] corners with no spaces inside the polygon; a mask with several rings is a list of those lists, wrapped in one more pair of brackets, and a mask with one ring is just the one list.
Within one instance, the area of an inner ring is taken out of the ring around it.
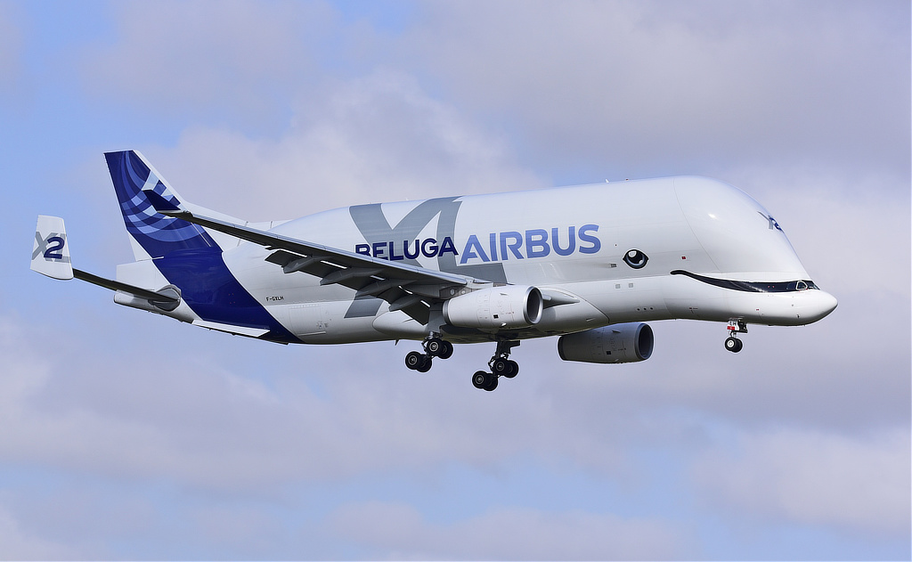
{"label": "near-side aircraft wing with dark underside and upturned blue tip", "polygon": [[430,316],[430,303],[443,298],[442,291],[479,281],[228,223],[191,213],[153,191],[144,193],[158,213],[275,250],[266,261],[280,265],[285,274],[300,271],[320,277],[320,285],[336,283],[353,288],[357,291],[356,298],[382,298],[389,302],[391,311],[402,310],[422,324]]}

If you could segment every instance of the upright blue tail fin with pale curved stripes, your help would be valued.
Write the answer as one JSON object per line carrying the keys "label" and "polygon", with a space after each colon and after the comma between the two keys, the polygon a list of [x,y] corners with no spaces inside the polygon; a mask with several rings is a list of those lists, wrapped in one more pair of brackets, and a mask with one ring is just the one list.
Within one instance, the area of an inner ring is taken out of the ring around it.
{"label": "upright blue tail fin with pale curved stripes", "polygon": [[139,152],[106,152],[105,160],[137,260],[163,257],[175,250],[219,247],[202,226],[155,211],[143,189],[177,206],[181,197]]}

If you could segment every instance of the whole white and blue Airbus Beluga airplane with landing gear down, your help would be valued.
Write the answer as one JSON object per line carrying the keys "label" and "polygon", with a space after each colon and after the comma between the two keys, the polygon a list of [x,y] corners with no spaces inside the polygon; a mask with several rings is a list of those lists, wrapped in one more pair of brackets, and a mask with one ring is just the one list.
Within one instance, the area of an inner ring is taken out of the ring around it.
{"label": "whole white and blue Airbus Beluga airplane with landing gear down", "polygon": [[454,344],[492,342],[482,390],[511,351],[557,337],[566,361],[649,359],[646,323],[801,326],[836,299],[760,203],[676,176],[525,192],[358,204],[249,223],[181,197],[138,151],[105,153],[135,261],[114,279],[72,266],[63,219],[39,215],[31,268],[109,288],[114,302],[281,344],[414,340],[427,372]]}

